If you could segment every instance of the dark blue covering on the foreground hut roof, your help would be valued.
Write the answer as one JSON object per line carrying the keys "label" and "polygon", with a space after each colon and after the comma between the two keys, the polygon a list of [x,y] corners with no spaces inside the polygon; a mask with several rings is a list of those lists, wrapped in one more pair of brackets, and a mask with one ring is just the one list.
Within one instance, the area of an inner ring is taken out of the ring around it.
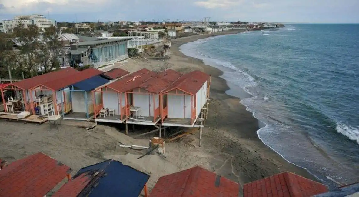
{"label": "dark blue covering on the foreground hut roof", "polygon": [[88,197],[138,197],[150,178],[150,175],[116,160],[81,168],[74,177],[91,171],[104,172],[104,175],[98,179],[98,184],[88,191]]}

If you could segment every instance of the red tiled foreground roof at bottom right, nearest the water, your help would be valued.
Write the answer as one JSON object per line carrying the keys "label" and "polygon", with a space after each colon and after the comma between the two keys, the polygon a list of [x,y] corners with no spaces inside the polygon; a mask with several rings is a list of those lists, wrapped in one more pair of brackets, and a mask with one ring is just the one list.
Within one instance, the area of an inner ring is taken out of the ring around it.
{"label": "red tiled foreground roof at bottom right, nearest the water", "polygon": [[256,180],[243,187],[244,197],[310,197],[327,191],[325,185],[290,172]]}

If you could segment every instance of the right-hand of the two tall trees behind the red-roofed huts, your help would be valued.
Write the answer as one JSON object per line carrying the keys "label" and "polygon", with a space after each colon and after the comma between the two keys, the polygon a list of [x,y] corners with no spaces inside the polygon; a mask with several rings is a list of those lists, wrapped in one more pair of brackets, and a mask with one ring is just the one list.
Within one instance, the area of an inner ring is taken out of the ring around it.
{"label": "right-hand of the two tall trees behind the red-roofed huts", "polygon": [[39,42],[39,61],[43,67],[42,72],[46,73],[60,67],[58,57],[62,43],[59,39],[59,31],[55,26],[45,29],[42,39]]}

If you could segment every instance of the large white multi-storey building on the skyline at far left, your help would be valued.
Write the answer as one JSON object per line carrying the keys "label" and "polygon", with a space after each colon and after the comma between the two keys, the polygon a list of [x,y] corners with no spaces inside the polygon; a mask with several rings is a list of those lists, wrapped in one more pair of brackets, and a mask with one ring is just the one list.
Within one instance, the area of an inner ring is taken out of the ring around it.
{"label": "large white multi-storey building on the skyline at far left", "polygon": [[56,21],[46,19],[42,14],[33,14],[33,15],[24,15],[24,16],[16,16],[14,19],[10,20],[3,20],[3,29],[5,33],[11,33],[13,28],[18,24],[25,24],[25,25],[37,25],[40,31],[45,31],[46,28],[56,26]]}

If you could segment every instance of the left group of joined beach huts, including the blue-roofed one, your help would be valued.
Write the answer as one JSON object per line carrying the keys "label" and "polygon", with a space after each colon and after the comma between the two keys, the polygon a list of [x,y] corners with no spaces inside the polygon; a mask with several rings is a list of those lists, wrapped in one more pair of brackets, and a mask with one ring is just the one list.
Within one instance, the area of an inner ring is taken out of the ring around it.
{"label": "left group of joined beach huts, including the blue-roofed one", "polygon": [[[89,120],[93,114],[93,100],[101,103],[101,94],[92,98],[91,91],[116,80],[129,72],[113,69],[102,72],[97,69],[77,71],[61,69],[33,78],[8,84],[1,88],[4,110],[9,113],[29,111],[32,114],[64,119]],[[12,92],[12,95],[4,92]],[[15,106],[23,105],[22,107]]]}

